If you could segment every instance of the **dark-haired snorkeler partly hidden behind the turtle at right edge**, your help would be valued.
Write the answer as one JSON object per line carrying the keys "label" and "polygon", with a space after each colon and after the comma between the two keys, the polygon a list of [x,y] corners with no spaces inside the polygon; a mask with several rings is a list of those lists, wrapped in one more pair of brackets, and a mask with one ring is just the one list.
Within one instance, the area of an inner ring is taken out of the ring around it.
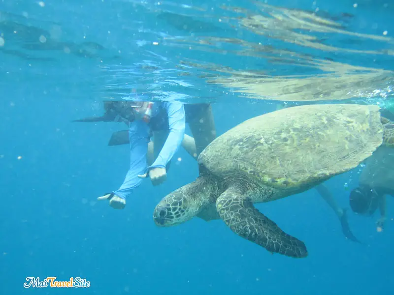
{"label": "dark-haired snorkeler partly hidden behind the turtle at right edge", "polygon": [[393,148],[381,146],[365,161],[359,186],[349,194],[353,212],[373,216],[379,208],[377,230],[384,228],[386,221],[386,195],[394,196],[394,152]]}

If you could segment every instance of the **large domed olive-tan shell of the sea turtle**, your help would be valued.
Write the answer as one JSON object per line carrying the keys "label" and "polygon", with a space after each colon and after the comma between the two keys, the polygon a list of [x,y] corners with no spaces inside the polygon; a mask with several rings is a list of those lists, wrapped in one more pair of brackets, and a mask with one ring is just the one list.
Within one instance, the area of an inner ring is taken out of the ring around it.
{"label": "large domed olive-tan shell of the sea turtle", "polygon": [[198,162],[217,177],[297,189],[357,167],[382,141],[378,106],[303,105],[244,121],[216,138]]}

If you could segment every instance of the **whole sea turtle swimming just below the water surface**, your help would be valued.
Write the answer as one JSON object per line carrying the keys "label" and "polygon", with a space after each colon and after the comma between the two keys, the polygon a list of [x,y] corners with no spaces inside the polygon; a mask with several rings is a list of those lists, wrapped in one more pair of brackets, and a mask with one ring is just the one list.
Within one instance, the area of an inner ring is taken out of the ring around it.
{"label": "whole sea turtle swimming just below the water surface", "polygon": [[393,124],[378,106],[303,105],[251,118],[217,137],[198,157],[199,176],[155,207],[157,226],[197,216],[222,219],[271,253],[301,258],[305,244],[257,210],[357,167],[383,143],[394,146]]}

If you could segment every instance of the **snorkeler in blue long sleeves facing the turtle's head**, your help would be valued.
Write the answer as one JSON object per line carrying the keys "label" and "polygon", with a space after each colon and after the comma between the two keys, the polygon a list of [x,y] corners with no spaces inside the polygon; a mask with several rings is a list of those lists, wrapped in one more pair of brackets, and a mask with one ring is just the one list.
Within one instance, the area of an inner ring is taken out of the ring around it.
{"label": "snorkeler in blue long sleeves facing the turtle's head", "polygon": [[[101,117],[85,118],[75,121],[97,122],[118,121],[129,125],[130,169],[121,187],[98,198],[109,200],[116,209],[126,206],[126,199],[138,187],[142,178],[150,177],[153,185],[166,179],[166,171],[171,158],[182,146],[195,158],[216,137],[212,109],[209,104],[183,104],[177,101],[163,102],[104,102],[105,114]],[[186,136],[186,121],[193,137]],[[116,136],[126,141],[125,132]],[[148,144],[153,137],[153,151]],[[154,153],[153,161],[152,153]]]}

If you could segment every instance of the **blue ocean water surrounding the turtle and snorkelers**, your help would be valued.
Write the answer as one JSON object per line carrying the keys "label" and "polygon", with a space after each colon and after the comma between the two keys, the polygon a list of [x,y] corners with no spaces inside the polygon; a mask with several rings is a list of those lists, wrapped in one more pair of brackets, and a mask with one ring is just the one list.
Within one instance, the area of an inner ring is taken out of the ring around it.
{"label": "blue ocean water surrounding the turtle and snorkelers", "polygon": [[[128,147],[107,146],[125,125],[71,120],[100,115],[105,99],[203,101],[212,102],[220,135],[296,90],[312,102],[342,91],[351,101],[390,103],[393,11],[388,0],[3,0],[0,294],[392,294],[393,198],[382,233],[377,215],[349,210],[361,244],[345,239],[314,189],[256,205],[306,243],[306,259],[271,255],[220,220],[158,228],[154,207],[198,176],[196,162],[179,149],[164,184],[144,181],[114,210],[97,197],[128,170]],[[294,77],[321,77],[328,88],[268,87]],[[260,84],[264,91],[249,88]],[[341,207],[361,169],[327,181]],[[23,287],[27,277],[48,276],[91,286]]]}

